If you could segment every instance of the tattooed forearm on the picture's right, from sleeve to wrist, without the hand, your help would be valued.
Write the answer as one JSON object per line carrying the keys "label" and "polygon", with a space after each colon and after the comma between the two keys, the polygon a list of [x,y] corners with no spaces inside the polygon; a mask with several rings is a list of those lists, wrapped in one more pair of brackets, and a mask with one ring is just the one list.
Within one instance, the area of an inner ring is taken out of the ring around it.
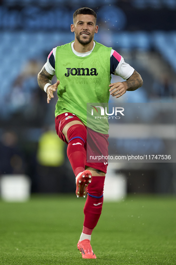
{"label": "tattooed forearm on the picture's right, from sleeve to wrist, without the hand", "polygon": [[138,88],[140,88],[143,84],[143,80],[138,72],[134,70],[133,74],[127,79],[127,81],[124,81],[127,85],[127,91],[134,91]]}

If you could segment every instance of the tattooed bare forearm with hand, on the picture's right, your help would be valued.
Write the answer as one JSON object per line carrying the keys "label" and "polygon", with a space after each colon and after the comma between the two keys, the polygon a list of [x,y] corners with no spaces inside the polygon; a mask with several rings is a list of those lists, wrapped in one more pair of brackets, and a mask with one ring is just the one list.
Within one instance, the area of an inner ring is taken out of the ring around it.
{"label": "tattooed bare forearm with hand, on the picture's right", "polygon": [[143,84],[142,78],[138,72],[134,70],[133,74],[124,82],[112,83],[109,85],[110,94],[116,98],[122,96],[126,91],[134,91]]}

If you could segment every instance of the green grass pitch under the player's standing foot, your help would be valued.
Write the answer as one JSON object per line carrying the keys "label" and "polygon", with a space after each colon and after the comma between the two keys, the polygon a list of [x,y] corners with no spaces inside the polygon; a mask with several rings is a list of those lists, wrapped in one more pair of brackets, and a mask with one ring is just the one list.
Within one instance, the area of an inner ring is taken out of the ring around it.
{"label": "green grass pitch under the player's standing foot", "polygon": [[77,250],[84,203],[75,194],[0,201],[0,264],[176,264],[176,197],[104,202],[92,233],[93,260]]}

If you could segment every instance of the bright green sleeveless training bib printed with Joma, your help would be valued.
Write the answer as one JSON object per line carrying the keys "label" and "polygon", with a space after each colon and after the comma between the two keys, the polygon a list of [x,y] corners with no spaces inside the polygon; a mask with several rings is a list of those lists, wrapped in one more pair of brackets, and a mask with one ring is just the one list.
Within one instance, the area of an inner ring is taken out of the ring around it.
{"label": "bright green sleeveless training bib printed with Joma", "polygon": [[[110,84],[110,52],[112,48],[96,42],[90,55],[79,57],[71,49],[71,43],[56,49],[55,71],[60,80],[55,116],[64,112],[77,115],[87,126],[87,103],[108,103]],[[90,104],[91,105],[91,104]],[[88,127],[108,134],[108,120],[95,118],[88,109]]]}

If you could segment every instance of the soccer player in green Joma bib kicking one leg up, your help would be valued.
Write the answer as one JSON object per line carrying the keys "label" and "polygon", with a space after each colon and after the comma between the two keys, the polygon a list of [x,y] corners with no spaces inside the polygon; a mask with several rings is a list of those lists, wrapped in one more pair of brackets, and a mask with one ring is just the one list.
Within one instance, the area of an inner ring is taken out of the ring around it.
{"label": "soccer player in green Joma bib kicking one leg up", "polygon": [[[57,90],[56,131],[68,144],[67,155],[76,177],[77,197],[85,197],[88,192],[83,230],[77,247],[82,258],[96,258],[90,240],[102,211],[108,162],[87,162],[86,150],[92,150],[86,141],[87,129],[92,143],[97,141],[100,152],[103,146],[105,155],[108,154],[108,131],[86,128],[86,103],[108,102],[110,95],[119,98],[126,91],[141,87],[143,81],[119,53],[94,41],[94,34],[98,32],[94,10],[88,7],[76,10],[71,32],[74,32],[75,40],[51,51],[38,74],[38,84],[47,93],[48,103]],[[55,74],[57,82],[52,85]],[[126,81],[110,84],[111,74]]]}

